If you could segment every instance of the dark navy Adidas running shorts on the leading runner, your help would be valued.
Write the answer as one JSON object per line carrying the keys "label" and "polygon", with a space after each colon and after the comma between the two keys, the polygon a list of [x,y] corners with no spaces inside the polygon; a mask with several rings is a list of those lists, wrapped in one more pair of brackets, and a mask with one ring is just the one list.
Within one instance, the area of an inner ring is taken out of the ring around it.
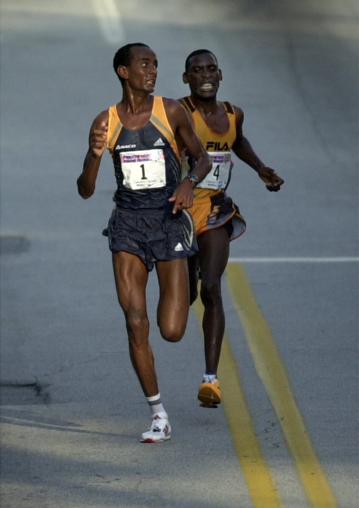
{"label": "dark navy Adidas running shorts on the leading runner", "polygon": [[198,251],[191,214],[182,210],[129,210],[115,207],[109,227],[112,252],[124,250],[138,256],[151,271],[156,261],[192,256]]}

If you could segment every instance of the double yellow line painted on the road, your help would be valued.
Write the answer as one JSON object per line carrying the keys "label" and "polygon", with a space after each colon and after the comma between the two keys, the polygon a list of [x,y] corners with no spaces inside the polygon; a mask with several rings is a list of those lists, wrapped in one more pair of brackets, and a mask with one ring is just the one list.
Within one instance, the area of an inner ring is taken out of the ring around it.
{"label": "double yellow line painted on the road", "polygon": [[[274,338],[245,272],[240,264],[229,263],[225,276],[256,371],[292,452],[308,503],[312,508],[337,508],[324,470],[306,431]],[[199,298],[194,303],[193,310],[201,325],[203,306]],[[219,370],[224,410],[253,506],[283,508],[280,494],[261,450],[241,386],[238,366],[226,336],[223,339]]]}

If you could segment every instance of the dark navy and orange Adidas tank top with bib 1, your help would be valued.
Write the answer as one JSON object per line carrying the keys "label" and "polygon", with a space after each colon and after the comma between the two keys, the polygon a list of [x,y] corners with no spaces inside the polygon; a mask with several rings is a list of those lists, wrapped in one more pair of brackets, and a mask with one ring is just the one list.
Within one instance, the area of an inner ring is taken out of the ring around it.
{"label": "dark navy and orange Adidas tank top with bib 1", "polygon": [[109,149],[115,168],[114,201],[122,208],[165,209],[181,181],[180,154],[167,119],[162,97],[154,96],[149,122],[126,129],[116,105],[109,108]]}

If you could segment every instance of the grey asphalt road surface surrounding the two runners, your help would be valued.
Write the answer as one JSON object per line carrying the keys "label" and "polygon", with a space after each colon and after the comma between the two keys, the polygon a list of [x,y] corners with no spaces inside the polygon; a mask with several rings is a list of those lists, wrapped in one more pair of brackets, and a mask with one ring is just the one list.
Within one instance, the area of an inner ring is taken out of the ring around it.
{"label": "grey asphalt road surface surrounding the two runners", "polygon": [[[357,4],[2,0],[0,22],[2,507],[356,508]],[[223,283],[218,409],[196,399],[200,306],[164,343],[150,277],[172,425],[157,446],[139,443],[149,410],[101,237],[110,155],[90,200],[76,188],[93,118],[121,99],[113,56],[137,41],[167,97],[188,94],[192,50],[216,53],[219,98],[285,180],[268,193],[235,161],[247,231]]]}

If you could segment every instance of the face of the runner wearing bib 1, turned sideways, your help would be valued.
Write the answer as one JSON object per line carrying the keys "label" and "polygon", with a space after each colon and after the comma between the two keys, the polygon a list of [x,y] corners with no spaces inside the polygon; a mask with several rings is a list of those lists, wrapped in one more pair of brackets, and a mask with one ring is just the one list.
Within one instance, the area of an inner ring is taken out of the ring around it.
{"label": "face of the runner wearing bib 1, turned sideways", "polygon": [[128,84],[131,88],[152,93],[157,79],[157,57],[146,46],[131,48],[132,60],[128,70]]}

